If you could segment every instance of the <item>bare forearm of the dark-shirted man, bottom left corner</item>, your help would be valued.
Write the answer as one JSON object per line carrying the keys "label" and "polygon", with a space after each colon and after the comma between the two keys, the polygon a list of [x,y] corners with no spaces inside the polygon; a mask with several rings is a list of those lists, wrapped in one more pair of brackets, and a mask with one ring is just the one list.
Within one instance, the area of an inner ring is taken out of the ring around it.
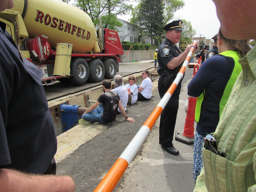
{"label": "bare forearm of the dark-shirted man, bottom left corner", "polygon": [[0,189],[5,192],[74,192],[75,183],[69,176],[30,175],[0,169]]}

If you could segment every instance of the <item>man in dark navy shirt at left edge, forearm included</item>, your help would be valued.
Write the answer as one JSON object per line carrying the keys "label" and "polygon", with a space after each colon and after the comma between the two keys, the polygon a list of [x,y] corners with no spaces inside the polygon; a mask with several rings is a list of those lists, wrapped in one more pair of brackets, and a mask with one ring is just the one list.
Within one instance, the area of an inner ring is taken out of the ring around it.
{"label": "man in dark navy shirt at left edge, forearm included", "polygon": [[[13,7],[0,0],[0,12]],[[0,21],[0,191],[73,192],[69,176],[55,176],[57,139],[41,82],[43,73],[21,57]]]}

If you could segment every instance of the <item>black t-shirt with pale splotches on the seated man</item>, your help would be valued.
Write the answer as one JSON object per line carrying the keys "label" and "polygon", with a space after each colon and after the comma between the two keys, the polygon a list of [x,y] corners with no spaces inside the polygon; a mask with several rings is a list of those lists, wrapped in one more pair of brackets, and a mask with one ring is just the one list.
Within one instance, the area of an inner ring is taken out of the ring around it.
{"label": "black t-shirt with pale splotches on the seated man", "polygon": [[116,92],[105,92],[100,95],[97,101],[103,104],[103,113],[101,119],[106,122],[112,122],[116,119],[120,97]]}

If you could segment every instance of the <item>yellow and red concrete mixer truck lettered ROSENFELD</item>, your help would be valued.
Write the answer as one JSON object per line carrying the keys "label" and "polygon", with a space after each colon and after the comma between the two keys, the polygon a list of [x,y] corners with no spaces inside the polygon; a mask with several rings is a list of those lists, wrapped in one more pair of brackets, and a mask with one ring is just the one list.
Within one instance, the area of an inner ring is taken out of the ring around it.
{"label": "yellow and red concrete mixer truck lettered ROSENFELD", "polygon": [[90,17],[79,8],[59,0],[14,0],[11,10],[0,12],[0,20],[17,44],[20,54],[44,75],[84,84],[101,82],[119,72],[124,54],[118,33],[96,30]]}

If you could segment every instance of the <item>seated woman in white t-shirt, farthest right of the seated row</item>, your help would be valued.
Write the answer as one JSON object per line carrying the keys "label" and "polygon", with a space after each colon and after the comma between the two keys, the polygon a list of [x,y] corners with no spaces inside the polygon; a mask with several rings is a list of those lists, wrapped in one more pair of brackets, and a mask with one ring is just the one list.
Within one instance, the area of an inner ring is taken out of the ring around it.
{"label": "seated woman in white t-shirt, farthest right of the seated row", "polygon": [[148,70],[142,71],[143,81],[138,88],[138,101],[149,100],[152,96],[153,83],[149,77]]}

